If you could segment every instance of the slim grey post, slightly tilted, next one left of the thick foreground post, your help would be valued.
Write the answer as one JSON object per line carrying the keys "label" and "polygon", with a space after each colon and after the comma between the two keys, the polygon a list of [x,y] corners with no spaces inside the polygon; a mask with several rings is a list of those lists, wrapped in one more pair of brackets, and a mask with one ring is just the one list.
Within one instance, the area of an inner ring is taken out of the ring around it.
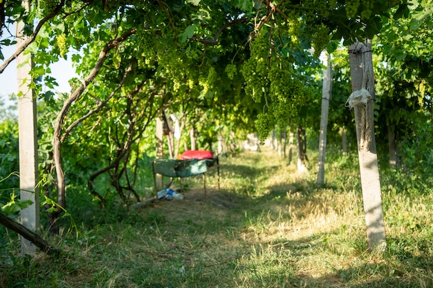
{"label": "slim grey post, slightly tilted, next one left of the thick foreground post", "polygon": [[328,67],[323,72],[322,84],[322,115],[320,115],[320,135],[319,135],[319,163],[317,171],[317,187],[324,184],[324,164],[326,154],[326,129],[328,127],[329,100],[332,90],[332,63],[328,55],[325,65]]}

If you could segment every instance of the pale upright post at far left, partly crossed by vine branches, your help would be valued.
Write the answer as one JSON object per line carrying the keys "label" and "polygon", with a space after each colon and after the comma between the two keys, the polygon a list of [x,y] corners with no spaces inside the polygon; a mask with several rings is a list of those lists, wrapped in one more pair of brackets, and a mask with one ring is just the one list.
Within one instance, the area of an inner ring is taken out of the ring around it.
{"label": "pale upright post at far left, partly crossed by vine branches", "polygon": [[[26,10],[30,10],[28,0],[22,1]],[[24,22],[17,22],[17,47],[26,40],[23,33]],[[39,192],[37,191],[37,119],[36,98],[31,88],[32,56],[21,53],[17,57],[18,81],[18,137],[19,137],[19,188],[21,200],[33,202],[21,210],[21,224],[30,231],[39,229]],[[36,246],[21,236],[21,253],[34,255]]]}

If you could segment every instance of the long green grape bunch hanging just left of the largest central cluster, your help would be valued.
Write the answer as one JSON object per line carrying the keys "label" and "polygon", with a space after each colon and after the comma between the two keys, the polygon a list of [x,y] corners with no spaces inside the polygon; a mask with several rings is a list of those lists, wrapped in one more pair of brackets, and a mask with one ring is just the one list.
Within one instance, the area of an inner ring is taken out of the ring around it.
{"label": "long green grape bunch hanging just left of the largest central cluster", "polygon": [[241,73],[246,82],[245,92],[251,95],[255,102],[260,102],[266,92],[268,84],[268,57],[269,46],[266,33],[259,32],[251,41],[251,54],[241,68]]}

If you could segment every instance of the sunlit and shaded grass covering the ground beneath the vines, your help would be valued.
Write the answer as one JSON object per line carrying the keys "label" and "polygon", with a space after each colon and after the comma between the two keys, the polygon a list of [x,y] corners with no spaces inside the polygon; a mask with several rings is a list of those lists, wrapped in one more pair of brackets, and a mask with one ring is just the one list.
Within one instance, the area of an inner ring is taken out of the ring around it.
{"label": "sunlit and shaded grass covering the ground beneath the vines", "polygon": [[[58,258],[19,256],[1,231],[0,287],[432,287],[433,195],[421,175],[381,170],[385,253],[368,253],[356,155],[329,148],[326,184],[264,148],[183,181],[180,201],[128,211],[81,200]],[[149,186],[151,186],[149,184]],[[78,200],[77,200],[78,201]],[[72,205],[72,201],[69,205]]]}

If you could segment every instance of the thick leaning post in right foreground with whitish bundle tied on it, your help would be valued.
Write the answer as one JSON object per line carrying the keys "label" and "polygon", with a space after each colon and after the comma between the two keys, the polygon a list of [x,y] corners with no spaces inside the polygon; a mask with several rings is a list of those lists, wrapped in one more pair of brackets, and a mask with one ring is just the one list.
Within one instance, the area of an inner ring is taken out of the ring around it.
{"label": "thick leaning post in right foreground with whitish bundle tied on it", "polygon": [[376,140],[374,136],[374,73],[371,40],[366,44],[349,46],[352,94],[347,100],[355,112],[356,137],[362,197],[364,200],[365,222],[369,250],[383,251],[386,247],[385,224],[383,222],[382,198]]}

